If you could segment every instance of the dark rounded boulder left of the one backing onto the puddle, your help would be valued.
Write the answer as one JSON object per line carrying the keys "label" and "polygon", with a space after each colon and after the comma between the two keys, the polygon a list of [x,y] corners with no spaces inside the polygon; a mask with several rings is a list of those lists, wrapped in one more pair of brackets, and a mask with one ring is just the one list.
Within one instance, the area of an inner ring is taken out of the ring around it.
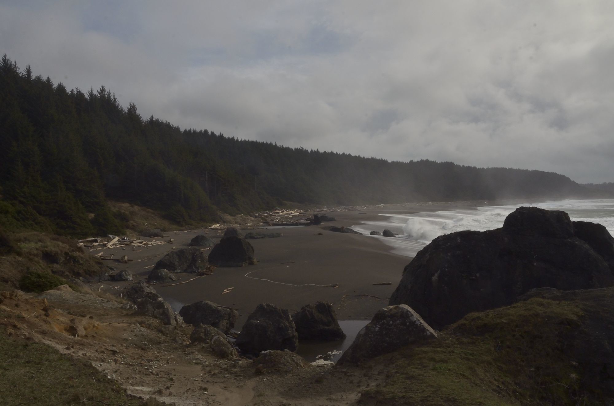
{"label": "dark rounded boulder left of the one backing onto the puddle", "polygon": [[254,356],[266,350],[296,351],[298,335],[288,310],[265,303],[249,315],[235,344]]}

